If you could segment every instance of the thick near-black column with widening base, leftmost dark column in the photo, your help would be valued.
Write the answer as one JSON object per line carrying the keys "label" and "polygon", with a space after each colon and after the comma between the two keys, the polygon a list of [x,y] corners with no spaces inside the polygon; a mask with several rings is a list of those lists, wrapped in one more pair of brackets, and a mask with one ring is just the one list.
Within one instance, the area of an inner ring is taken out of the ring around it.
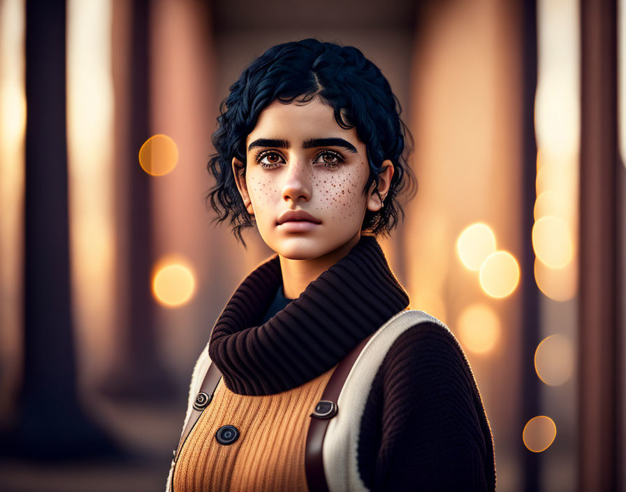
{"label": "thick near-black column with widening base, leftmost dark column in the photo", "polygon": [[65,1],[26,8],[24,377],[3,454],[85,457],[112,451],[76,391],[70,309]]}

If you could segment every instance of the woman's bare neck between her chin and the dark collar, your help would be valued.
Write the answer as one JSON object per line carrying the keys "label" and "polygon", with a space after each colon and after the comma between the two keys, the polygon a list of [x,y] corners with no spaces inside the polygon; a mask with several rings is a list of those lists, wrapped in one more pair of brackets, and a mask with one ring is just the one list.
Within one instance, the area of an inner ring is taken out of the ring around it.
{"label": "woman's bare neck between her chin and the dark collar", "polygon": [[358,243],[359,239],[361,239],[361,231],[358,231],[356,236],[344,245],[318,258],[292,260],[279,254],[284,296],[288,299],[298,298],[305,291],[308,284],[346,256]]}

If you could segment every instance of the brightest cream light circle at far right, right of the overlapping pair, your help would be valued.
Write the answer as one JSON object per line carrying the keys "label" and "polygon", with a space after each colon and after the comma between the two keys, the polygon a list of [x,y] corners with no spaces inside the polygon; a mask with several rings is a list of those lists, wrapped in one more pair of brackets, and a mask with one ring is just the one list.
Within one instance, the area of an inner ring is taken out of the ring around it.
{"label": "brightest cream light circle at far right, right of the overlapping pair", "polygon": [[574,254],[567,225],[553,215],[541,217],[532,226],[532,247],[537,258],[550,268],[563,268]]}

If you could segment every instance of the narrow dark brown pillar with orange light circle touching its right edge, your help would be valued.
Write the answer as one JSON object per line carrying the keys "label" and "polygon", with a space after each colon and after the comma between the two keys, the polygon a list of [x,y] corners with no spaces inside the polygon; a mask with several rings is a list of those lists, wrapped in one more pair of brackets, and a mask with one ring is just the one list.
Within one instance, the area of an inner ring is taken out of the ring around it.
{"label": "narrow dark brown pillar with orange light circle touching its right edge", "polygon": [[[186,389],[177,388],[163,364],[154,320],[151,274],[154,265],[152,248],[152,194],[154,178],[139,165],[141,145],[152,136],[150,125],[150,1],[133,0],[130,22],[130,124],[129,148],[126,149],[124,173],[129,198],[128,229],[125,231],[128,270],[121,272],[129,288],[128,312],[122,314],[117,361],[102,391],[125,400],[172,400]],[[124,319],[125,318],[125,319]]]}

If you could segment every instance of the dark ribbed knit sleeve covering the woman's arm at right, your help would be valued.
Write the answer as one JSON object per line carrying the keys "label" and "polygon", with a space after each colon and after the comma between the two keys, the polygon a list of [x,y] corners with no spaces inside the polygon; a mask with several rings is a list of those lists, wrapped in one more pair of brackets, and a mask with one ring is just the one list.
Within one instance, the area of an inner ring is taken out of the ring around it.
{"label": "dark ribbed knit sleeve covering the woman's arm at right", "polygon": [[387,352],[361,420],[358,469],[372,491],[495,491],[480,392],[440,326],[413,326]]}

